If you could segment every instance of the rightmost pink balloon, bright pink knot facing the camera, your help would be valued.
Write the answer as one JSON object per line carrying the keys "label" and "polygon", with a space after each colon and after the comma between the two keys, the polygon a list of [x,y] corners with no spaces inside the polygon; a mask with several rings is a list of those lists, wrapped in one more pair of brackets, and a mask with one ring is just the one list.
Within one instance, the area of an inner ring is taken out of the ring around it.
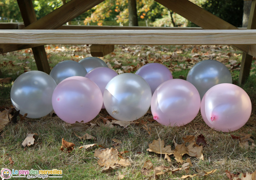
{"label": "rightmost pink balloon, bright pink knot facing the camera", "polygon": [[235,131],[248,121],[252,103],[247,93],[234,84],[222,83],[210,88],[201,102],[204,122],[217,131]]}

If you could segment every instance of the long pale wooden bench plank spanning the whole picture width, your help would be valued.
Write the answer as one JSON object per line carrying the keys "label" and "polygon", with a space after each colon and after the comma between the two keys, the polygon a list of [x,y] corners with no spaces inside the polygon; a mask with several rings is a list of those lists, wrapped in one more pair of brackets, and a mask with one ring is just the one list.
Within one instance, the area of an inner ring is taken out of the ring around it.
{"label": "long pale wooden bench plank spanning the whole picture width", "polygon": [[0,44],[256,44],[256,30],[0,30]]}

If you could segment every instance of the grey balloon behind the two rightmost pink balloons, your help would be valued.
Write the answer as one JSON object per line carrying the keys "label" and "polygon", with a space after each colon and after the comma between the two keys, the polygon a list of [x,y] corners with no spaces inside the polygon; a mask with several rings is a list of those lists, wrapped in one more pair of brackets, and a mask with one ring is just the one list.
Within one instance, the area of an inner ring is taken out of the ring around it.
{"label": "grey balloon behind the two rightmost pink balloons", "polygon": [[211,87],[221,83],[232,83],[228,68],[216,60],[200,61],[193,66],[187,76],[187,81],[198,90],[201,100]]}

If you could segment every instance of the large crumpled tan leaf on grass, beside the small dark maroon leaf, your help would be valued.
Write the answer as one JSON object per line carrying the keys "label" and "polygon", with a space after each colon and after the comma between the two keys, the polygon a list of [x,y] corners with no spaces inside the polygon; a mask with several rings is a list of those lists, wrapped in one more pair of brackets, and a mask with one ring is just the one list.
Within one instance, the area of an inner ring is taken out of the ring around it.
{"label": "large crumpled tan leaf on grass, beside the small dark maroon leaf", "polygon": [[[183,144],[177,144],[174,141],[175,144],[175,151],[180,153],[180,155],[188,154],[192,157],[197,157],[199,159],[204,160],[204,156],[202,153],[203,146],[199,146],[196,144],[195,136],[189,135],[182,138],[184,140]],[[185,146],[186,143],[189,143],[188,146]]]}

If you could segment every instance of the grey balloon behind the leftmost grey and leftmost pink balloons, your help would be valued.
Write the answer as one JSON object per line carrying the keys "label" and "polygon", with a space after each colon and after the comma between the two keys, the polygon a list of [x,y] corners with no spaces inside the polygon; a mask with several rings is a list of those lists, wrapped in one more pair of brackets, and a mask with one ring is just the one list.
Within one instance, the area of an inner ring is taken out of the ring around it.
{"label": "grey balloon behind the leftmost grey and leftmost pink balloons", "polygon": [[52,68],[52,71],[50,72],[50,76],[52,76],[57,84],[59,84],[62,80],[68,77],[84,77],[86,74],[86,69],[84,69],[84,67],[80,63],[71,60],[59,62]]}

